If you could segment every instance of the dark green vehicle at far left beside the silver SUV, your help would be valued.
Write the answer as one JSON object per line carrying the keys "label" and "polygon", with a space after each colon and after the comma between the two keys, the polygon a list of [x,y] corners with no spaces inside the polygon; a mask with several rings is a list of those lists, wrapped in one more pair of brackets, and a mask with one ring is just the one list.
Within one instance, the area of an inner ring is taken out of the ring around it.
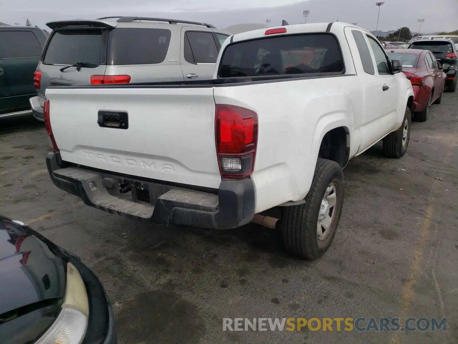
{"label": "dark green vehicle at far left beside the silver SUV", "polygon": [[0,27],[0,118],[32,114],[33,73],[47,38],[40,28]]}

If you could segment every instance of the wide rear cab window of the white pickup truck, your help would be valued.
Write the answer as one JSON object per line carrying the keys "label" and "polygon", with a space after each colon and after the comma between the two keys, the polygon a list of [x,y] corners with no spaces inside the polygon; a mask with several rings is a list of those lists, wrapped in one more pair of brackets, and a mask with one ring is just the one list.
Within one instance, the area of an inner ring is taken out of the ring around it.
{"label": "wide rear cab window of the white pickup truck", "polygon": [[230,44],[218,78],[343,72],[337,39],[328,33],[309,33]]}

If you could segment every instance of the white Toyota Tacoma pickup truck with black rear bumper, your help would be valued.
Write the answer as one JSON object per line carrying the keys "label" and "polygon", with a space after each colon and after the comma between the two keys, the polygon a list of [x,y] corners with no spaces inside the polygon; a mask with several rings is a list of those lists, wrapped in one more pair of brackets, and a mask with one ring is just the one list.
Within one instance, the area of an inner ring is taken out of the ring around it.
{"label": "white Toyota Tacoma pickup truck with black rear bumper", "polygon": [[343,22],[232,35],[216,66],[208,81],[48,88],[53,183],[167,225],[277,213],[289,252],[322,256],[349,159],[380,140],[388,157],[407,150],[414,93],[402,66]]}

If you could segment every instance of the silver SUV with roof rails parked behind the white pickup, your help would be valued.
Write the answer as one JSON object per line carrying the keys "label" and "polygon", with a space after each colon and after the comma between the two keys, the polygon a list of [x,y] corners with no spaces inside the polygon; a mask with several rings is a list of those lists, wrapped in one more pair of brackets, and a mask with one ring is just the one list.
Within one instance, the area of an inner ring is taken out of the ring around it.
{"label": "silver SUV with roof rails parked behind the white pickup", "polygon": [[230,35],[210,24],[147,17],[46,25],[53,31],[33,79],[38,96],[30,98],[40,121],[50,86],[211,79],[221,44]]}

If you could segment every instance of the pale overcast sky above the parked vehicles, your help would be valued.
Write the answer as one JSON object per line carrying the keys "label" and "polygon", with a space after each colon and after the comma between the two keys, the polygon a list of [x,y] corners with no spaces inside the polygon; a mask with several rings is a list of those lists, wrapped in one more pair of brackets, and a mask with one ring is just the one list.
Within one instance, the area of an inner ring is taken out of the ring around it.
{"label": "pale overcast sky above the parked vehicles", "polygon": [[[0,0],[0,22],[46,28],[53,20],[131,15],[165,17],[208,22],[217,28],[240,23],[281,25],[307,22],[356,22],[369,31],[376,29],[376,0]],[[396,30],[408,26],[418,31],[417,19],[424,18],[422,33],[458,29],[458,0],[386,0],[380,9],[378,29]]]}

